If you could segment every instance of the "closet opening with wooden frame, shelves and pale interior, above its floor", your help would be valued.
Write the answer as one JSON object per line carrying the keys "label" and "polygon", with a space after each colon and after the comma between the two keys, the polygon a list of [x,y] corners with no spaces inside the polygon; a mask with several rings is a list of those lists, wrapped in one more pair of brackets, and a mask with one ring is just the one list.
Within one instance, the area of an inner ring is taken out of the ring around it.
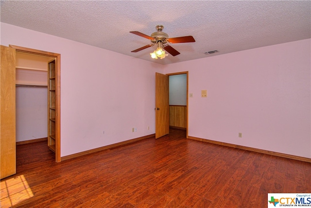
{"label": "closet opening with wooden frame, shelves and pale interior, above its floor", "polygon": [[[17,120],[17,142],[26,140],[27,143],[27,140],[32,139],[34,132],[34,139],[40,137],[38,135],[46,135],[44,137],[48,137],[47,145],[55,152],[55,161],[60,162],[60,54],[12,45],[9,47],[16,49],[17,60],[16,110],[19,113],[17,119],[21,119]],[[42,96],[45,96],[45,100]],[[31,108],[18,108],[20,105],[32,103],[35,106]],[[42,106],[44,104],[45,110]],[[34,111],[35,108],[37,111]],[[27,121],[27,114],[32,113],[35,116],[35,127],[27,128],[30,122],[24,122]],[[38,119],[45,121],[39,124]],[[21,138],[23,133],[25,137]]]}

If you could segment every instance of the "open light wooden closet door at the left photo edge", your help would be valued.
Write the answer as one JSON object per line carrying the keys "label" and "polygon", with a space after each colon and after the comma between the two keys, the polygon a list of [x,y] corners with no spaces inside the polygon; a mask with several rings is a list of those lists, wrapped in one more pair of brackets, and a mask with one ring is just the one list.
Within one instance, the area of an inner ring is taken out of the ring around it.
{"label": "open light wooden closet door at the left photo edge", "polygon": [[0,178],[16,174],[15,49],[1,46]]}

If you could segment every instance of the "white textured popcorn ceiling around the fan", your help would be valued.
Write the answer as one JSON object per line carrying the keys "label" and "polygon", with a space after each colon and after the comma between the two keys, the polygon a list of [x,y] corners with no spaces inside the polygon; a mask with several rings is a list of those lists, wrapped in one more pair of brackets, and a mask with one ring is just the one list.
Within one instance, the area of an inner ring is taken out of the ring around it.
{"label": "white textured popcorn ceiling around the fan", "polygon": [[[1,0],[0,20],[139,59],[172,64],[311,38],[311,1]],[[162,60],[150,57],[155,46],[131,53],[151,42],[130,31],[151,35],[159,24],[170,37],[192,35],[196,42],[171,44],[181,54]],[[204,53],[211,50],[219,52]]]}

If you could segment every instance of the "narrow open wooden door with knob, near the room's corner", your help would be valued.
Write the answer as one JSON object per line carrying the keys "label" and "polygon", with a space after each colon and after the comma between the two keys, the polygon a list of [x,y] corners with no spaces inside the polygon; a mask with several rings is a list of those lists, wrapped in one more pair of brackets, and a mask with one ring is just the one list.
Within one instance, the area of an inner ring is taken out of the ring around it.
{"label": "narrow open wooden door with knob, near the room's corner", "polygon": [[155,139],[170,132],[169,76],[155,73]]}

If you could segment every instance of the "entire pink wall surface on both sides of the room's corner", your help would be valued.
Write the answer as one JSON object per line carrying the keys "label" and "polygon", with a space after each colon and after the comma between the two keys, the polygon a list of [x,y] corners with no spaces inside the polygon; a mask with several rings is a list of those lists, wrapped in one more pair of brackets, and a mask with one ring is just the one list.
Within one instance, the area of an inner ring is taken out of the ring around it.
{"label": "entire pink wall surface on both sides of the room's corner", "polygon": [[190,136],[311,158],[310,39],[165,66],[1,23],[9,44],[61,54],[62,157],[155,133],[155,72],[189,71]]}

